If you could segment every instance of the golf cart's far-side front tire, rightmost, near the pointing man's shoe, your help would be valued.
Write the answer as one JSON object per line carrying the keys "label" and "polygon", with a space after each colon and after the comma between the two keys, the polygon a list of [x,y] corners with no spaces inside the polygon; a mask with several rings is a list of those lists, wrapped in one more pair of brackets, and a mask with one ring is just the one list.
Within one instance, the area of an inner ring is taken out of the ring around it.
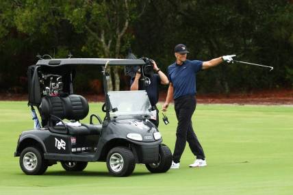
{"label": "golf cart's far-side front tire, rightmost, near the pointing man's shoe", "polygon": [[150,172],[167,172],[172,164],[172,153],[166,145],[160,146],[160,161],[158,163],[146,164]]}

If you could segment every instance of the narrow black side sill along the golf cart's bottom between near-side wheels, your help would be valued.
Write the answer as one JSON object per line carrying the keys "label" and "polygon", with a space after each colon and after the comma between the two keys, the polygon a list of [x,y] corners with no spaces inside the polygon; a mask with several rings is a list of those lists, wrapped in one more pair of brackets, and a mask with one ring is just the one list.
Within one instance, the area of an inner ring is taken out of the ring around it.
{"label": "narrow black side sill along the golf cart's bottom between near-side wheels", "polygon": [[96,161],[94,160],[95,153],[79,153],[79,154],[54,154],[45,153],[44,159],[62,160],[62,161]]}

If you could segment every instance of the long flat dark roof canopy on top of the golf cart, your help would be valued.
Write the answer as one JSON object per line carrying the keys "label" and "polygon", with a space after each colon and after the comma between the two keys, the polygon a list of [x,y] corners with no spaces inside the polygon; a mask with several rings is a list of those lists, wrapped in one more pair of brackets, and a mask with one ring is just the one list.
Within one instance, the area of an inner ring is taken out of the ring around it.
{"label": "long flat dark roof canopy on top of the golf cart", "polygon": [[64,65],[96,65],[96,66],[140,66],[145,65],[144,60],[128,60],[113,58],[65,58],[38,60],[40,66],[64,66]]}

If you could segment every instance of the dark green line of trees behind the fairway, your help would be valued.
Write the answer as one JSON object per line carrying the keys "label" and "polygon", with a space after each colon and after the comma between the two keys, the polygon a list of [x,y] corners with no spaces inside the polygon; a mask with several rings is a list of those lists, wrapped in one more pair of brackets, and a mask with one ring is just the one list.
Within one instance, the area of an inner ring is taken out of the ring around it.
{"label": "dark green line of trees behind the fairway", "polygon": [[[166,73],[179,43],[190,60],[236,54],[236,60],[274,67],[203,71],[201,93],[293,88],[292,0],[1,0],[0,92],[27,92],[27,66],[38,54],[125,58],[131,47]],[[101,92],[101,73],[87,69],[77,74],[77,92]],[[123,69],[111,73],[110,89],[129,89]]]}

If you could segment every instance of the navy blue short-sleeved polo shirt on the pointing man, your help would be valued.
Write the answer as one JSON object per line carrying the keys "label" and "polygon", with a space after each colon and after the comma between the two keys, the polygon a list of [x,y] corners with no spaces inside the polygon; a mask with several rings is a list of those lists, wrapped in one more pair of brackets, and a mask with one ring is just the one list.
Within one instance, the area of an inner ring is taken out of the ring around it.
{"label": "navy blue short-sleeved polo shirt on the pointing man", "polygon": [[173,83],[173,98],[196,94],[196,73],[203,68],[199,60],[186,60],[181,66],[173,63],[168,66],[168,79]]}

